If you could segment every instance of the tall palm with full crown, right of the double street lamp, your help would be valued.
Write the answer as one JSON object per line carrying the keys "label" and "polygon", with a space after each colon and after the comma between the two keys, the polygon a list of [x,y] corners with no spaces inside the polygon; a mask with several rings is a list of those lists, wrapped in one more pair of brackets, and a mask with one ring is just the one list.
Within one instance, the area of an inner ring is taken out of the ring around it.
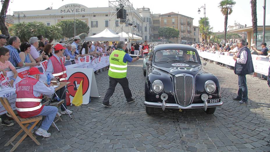
{"label": "tall palm with full crown, right of the double street lamp", "polygon": [[236,4],[233,0],[222,0],[219,2],[219,8],[221,13],[224,15],[224,40],[226,43],[226,34],[227,34],[227,24],[228,24],[228,15],[232,14],[232,7]]}

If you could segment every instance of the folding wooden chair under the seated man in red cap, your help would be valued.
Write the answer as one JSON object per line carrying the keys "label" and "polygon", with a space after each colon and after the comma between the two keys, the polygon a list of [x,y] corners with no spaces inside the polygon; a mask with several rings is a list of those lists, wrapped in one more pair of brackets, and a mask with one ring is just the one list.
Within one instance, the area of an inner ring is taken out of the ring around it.
{"label": "folding wooden chair under the seated man in red cap", "polygon": [[[38,124],[38,122],[42,119],[42,116],[37,117],[31,117],[31,118],[21,118],[19,116],[16,116],[13,112],[10,103],[8,99],[6,98],[0,98],[0,101],[4,108],[7,110],[8,114],[11,115],[11,117],[19,124],[19,126],[22,128],[18,133],[16,133],[4,146],[8,146],[11,144],[13,148],[10,150],[10,152],[14,151],[19,144],[27,137],[27,135],[37,144],[40,145],[36,137],[33,136],[33,133],[31,132],[33,128]],[[27,129],[27,126],[29,126],[30,123],[34,122],[34,124],[30,127],[30,129]],[[25,124],[25,125],[24,125]],[[25,132],[25,134],[21,137],[21,139],[14,145],[12,142],[22,133]]]}

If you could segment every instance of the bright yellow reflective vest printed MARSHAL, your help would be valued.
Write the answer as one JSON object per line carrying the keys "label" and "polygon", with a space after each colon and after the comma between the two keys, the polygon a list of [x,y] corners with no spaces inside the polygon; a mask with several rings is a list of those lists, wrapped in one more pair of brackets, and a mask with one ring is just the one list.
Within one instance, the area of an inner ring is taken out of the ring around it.
{"label": "bright yellow reflective vest printed MARSHAL", "polygon": [[110,55],[110,68],[108,75],[112,78],[125,78],[127,76],[127,62],[123,62],[126,52],[114,50]]}

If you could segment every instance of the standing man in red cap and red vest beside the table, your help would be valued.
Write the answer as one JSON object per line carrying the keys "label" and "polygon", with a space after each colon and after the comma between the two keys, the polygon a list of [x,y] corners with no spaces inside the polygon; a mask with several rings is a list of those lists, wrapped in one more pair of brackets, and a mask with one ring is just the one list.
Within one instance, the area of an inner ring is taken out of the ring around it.
{"label": "standing man in red cap and red vest beside the table", "polygon": [[[54,46],[54,55],[51,56],[48,60],[47,63],[47,70],[46,70],[46,75],[50,75],[51,80],[54,81],[61,81],[61,82],[67,82],[67,69],[65,68],[65,65],[63,61],[61,60],[61,56],[63,56],[63,52],[66,48],[63,47],[61,44],[56,44]],[[66,105],[66,92],[65,92],[65,87],[62,87],[60,90],[56,91],[57,96],[60,98],[62,94],[61,99],[64,100],[64,104],[61,105],[61,114],[72,114],[72,111],[67,109]],[[64,106],[65,107],[64,107]]]}

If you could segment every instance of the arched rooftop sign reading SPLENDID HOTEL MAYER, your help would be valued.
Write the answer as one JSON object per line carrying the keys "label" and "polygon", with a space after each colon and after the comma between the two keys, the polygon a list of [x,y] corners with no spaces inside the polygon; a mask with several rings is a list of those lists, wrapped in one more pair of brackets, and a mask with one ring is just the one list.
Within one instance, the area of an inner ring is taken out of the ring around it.
{"label": "arched rooftop sign reading SPLENDID HOTEL MAYER", "polygon": [[85,13],[89,11],[86,6],[81,4],[67,4],[58,8],[58,12],[60,14],[68,14],[68,13]]}

